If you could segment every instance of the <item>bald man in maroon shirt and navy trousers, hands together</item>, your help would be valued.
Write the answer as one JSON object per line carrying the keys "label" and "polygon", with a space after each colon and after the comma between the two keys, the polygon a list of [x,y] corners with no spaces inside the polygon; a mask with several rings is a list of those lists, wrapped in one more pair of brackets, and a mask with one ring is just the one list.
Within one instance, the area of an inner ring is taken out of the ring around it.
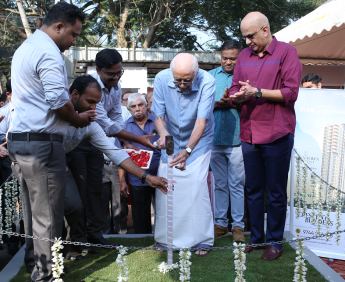
{"label": "bald man in maroon shirt and navy trousers, hands together", "polygon": [[[241,22],[241,32],[249,48],[238,59],[230,102],[242,106],[240,140],[246,174],[247,204],[251,239],[245,252],[262,249],[266,187],[266,241],[283,239],[287,208],[287,178],[294,144],[297,100],[302,66],[296,49],[272,36],[265,15],[249,13]],[[225,97],[226,98],[226,97]],[[269,246],[263,260],[283,253],[282,245]]]}

